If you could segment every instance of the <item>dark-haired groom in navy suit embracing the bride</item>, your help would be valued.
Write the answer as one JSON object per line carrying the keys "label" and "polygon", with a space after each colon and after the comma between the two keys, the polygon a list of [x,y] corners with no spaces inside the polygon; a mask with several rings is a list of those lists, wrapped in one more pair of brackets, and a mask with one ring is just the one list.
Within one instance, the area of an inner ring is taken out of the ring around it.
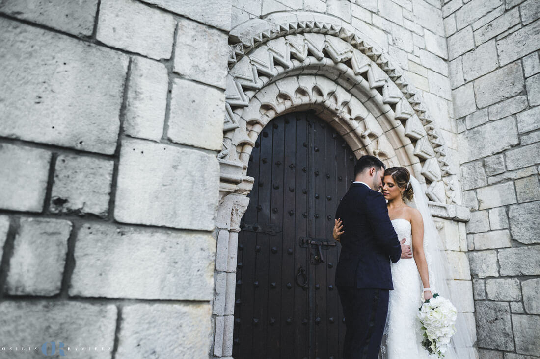
{"label": "dark-haired groom in navy suit embracing the bride", "polygon": [[362,156],[354,167],[355,182],[341,199],[335,218],[347,229],[335,283],[345,316],[343,359],[376,359],[394,289],[390,260],[411,258],[410,247],[397,238],[384,197],[378,192],[384,163]]}

